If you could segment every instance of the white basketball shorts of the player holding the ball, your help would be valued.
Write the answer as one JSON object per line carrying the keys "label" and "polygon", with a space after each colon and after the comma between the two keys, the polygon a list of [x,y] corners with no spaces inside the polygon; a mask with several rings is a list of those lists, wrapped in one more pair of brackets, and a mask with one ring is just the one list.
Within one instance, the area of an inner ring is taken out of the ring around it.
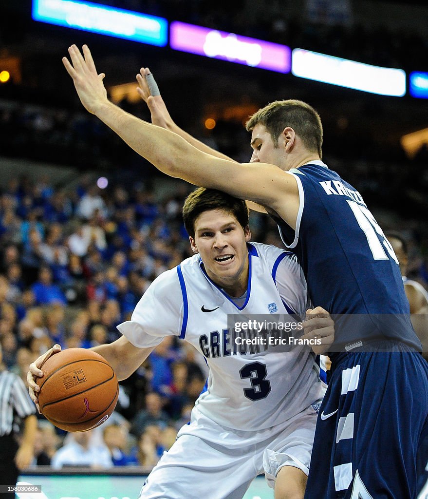
{"label": "white basketball shorts of the player holding the ball", "polygon": [[317,412],[312,406],[259,432],[225,428],[195,407],[191,423],[153,468],[140,499],[241,499],[265,473],[270,487],[284,466],[309,471]]}

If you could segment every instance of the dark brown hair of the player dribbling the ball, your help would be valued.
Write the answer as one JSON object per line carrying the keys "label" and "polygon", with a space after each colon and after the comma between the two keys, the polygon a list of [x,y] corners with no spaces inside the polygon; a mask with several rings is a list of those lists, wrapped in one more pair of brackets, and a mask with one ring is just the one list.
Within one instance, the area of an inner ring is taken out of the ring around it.
{"label": "dark brown hair of the player dribbling the ball", "polygon": [[243,229],[248,225],[249,210],[245,201],[216,189],[199,187],[189,194],[183,205],[183,222],[189,236],[195,239],[196,219],[210,210],[224,210],[233,215]]}

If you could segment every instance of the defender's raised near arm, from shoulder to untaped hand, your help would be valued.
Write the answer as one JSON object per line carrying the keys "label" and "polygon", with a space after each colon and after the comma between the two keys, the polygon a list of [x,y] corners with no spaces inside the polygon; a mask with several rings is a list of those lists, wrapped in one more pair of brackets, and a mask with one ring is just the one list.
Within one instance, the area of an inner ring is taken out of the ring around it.
{"label": "defender's raised near arm, from shoulder to untaped hand", "polygon": [[132,116],[107,99],[104,74],[97,73],[86,45],[84,57],[75,45],[69,48],[69,54],[72,63],[66,57],[63,63],[84,107],[156,168],[194,185],[219,189],[270,207],[295,228],[299,195],[293,175],[273,165],[237,164],[214,157],[176,133]]}

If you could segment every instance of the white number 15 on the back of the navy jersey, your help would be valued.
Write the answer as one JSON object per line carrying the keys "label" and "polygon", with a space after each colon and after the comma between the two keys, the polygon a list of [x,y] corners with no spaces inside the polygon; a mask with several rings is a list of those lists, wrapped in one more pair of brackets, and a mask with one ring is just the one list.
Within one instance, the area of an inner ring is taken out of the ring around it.
{"label": "white number 15 on the back of the navy jersey", "polygon": [[[391,257],[398,265],[397,256],[390,242],[385,237],[385,234],[371,212],[365,206],[359,205],[355,201],[348,201],[348,204],[357,219],[358,225],[366,236],[373,258],[375,260],[388,260]],[[388,251],[389,256],[385,252],[384,247]]]}

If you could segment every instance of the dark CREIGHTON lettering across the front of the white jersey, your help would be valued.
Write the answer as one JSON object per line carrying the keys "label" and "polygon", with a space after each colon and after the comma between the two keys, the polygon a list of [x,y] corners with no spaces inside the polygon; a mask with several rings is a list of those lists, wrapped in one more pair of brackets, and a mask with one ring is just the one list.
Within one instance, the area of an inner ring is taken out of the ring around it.
{"label": "dark CREIGHTON lettering across the front of the white jersey", "polygon": [[[236,332],[234,329],[223,329],[211,331],[208,334],[201,334],[199,337],[199,346],[202,354],[207,358],[227,357],[229,355],[245,355],[260,353],[273,348],[274,340],[270,338],[281,339],[284,337],[282,330],[261,329],[256,331],[246,329]],[[247,344],[242,341],[236,342],[236,338],[256,339],[255,344]]]}

